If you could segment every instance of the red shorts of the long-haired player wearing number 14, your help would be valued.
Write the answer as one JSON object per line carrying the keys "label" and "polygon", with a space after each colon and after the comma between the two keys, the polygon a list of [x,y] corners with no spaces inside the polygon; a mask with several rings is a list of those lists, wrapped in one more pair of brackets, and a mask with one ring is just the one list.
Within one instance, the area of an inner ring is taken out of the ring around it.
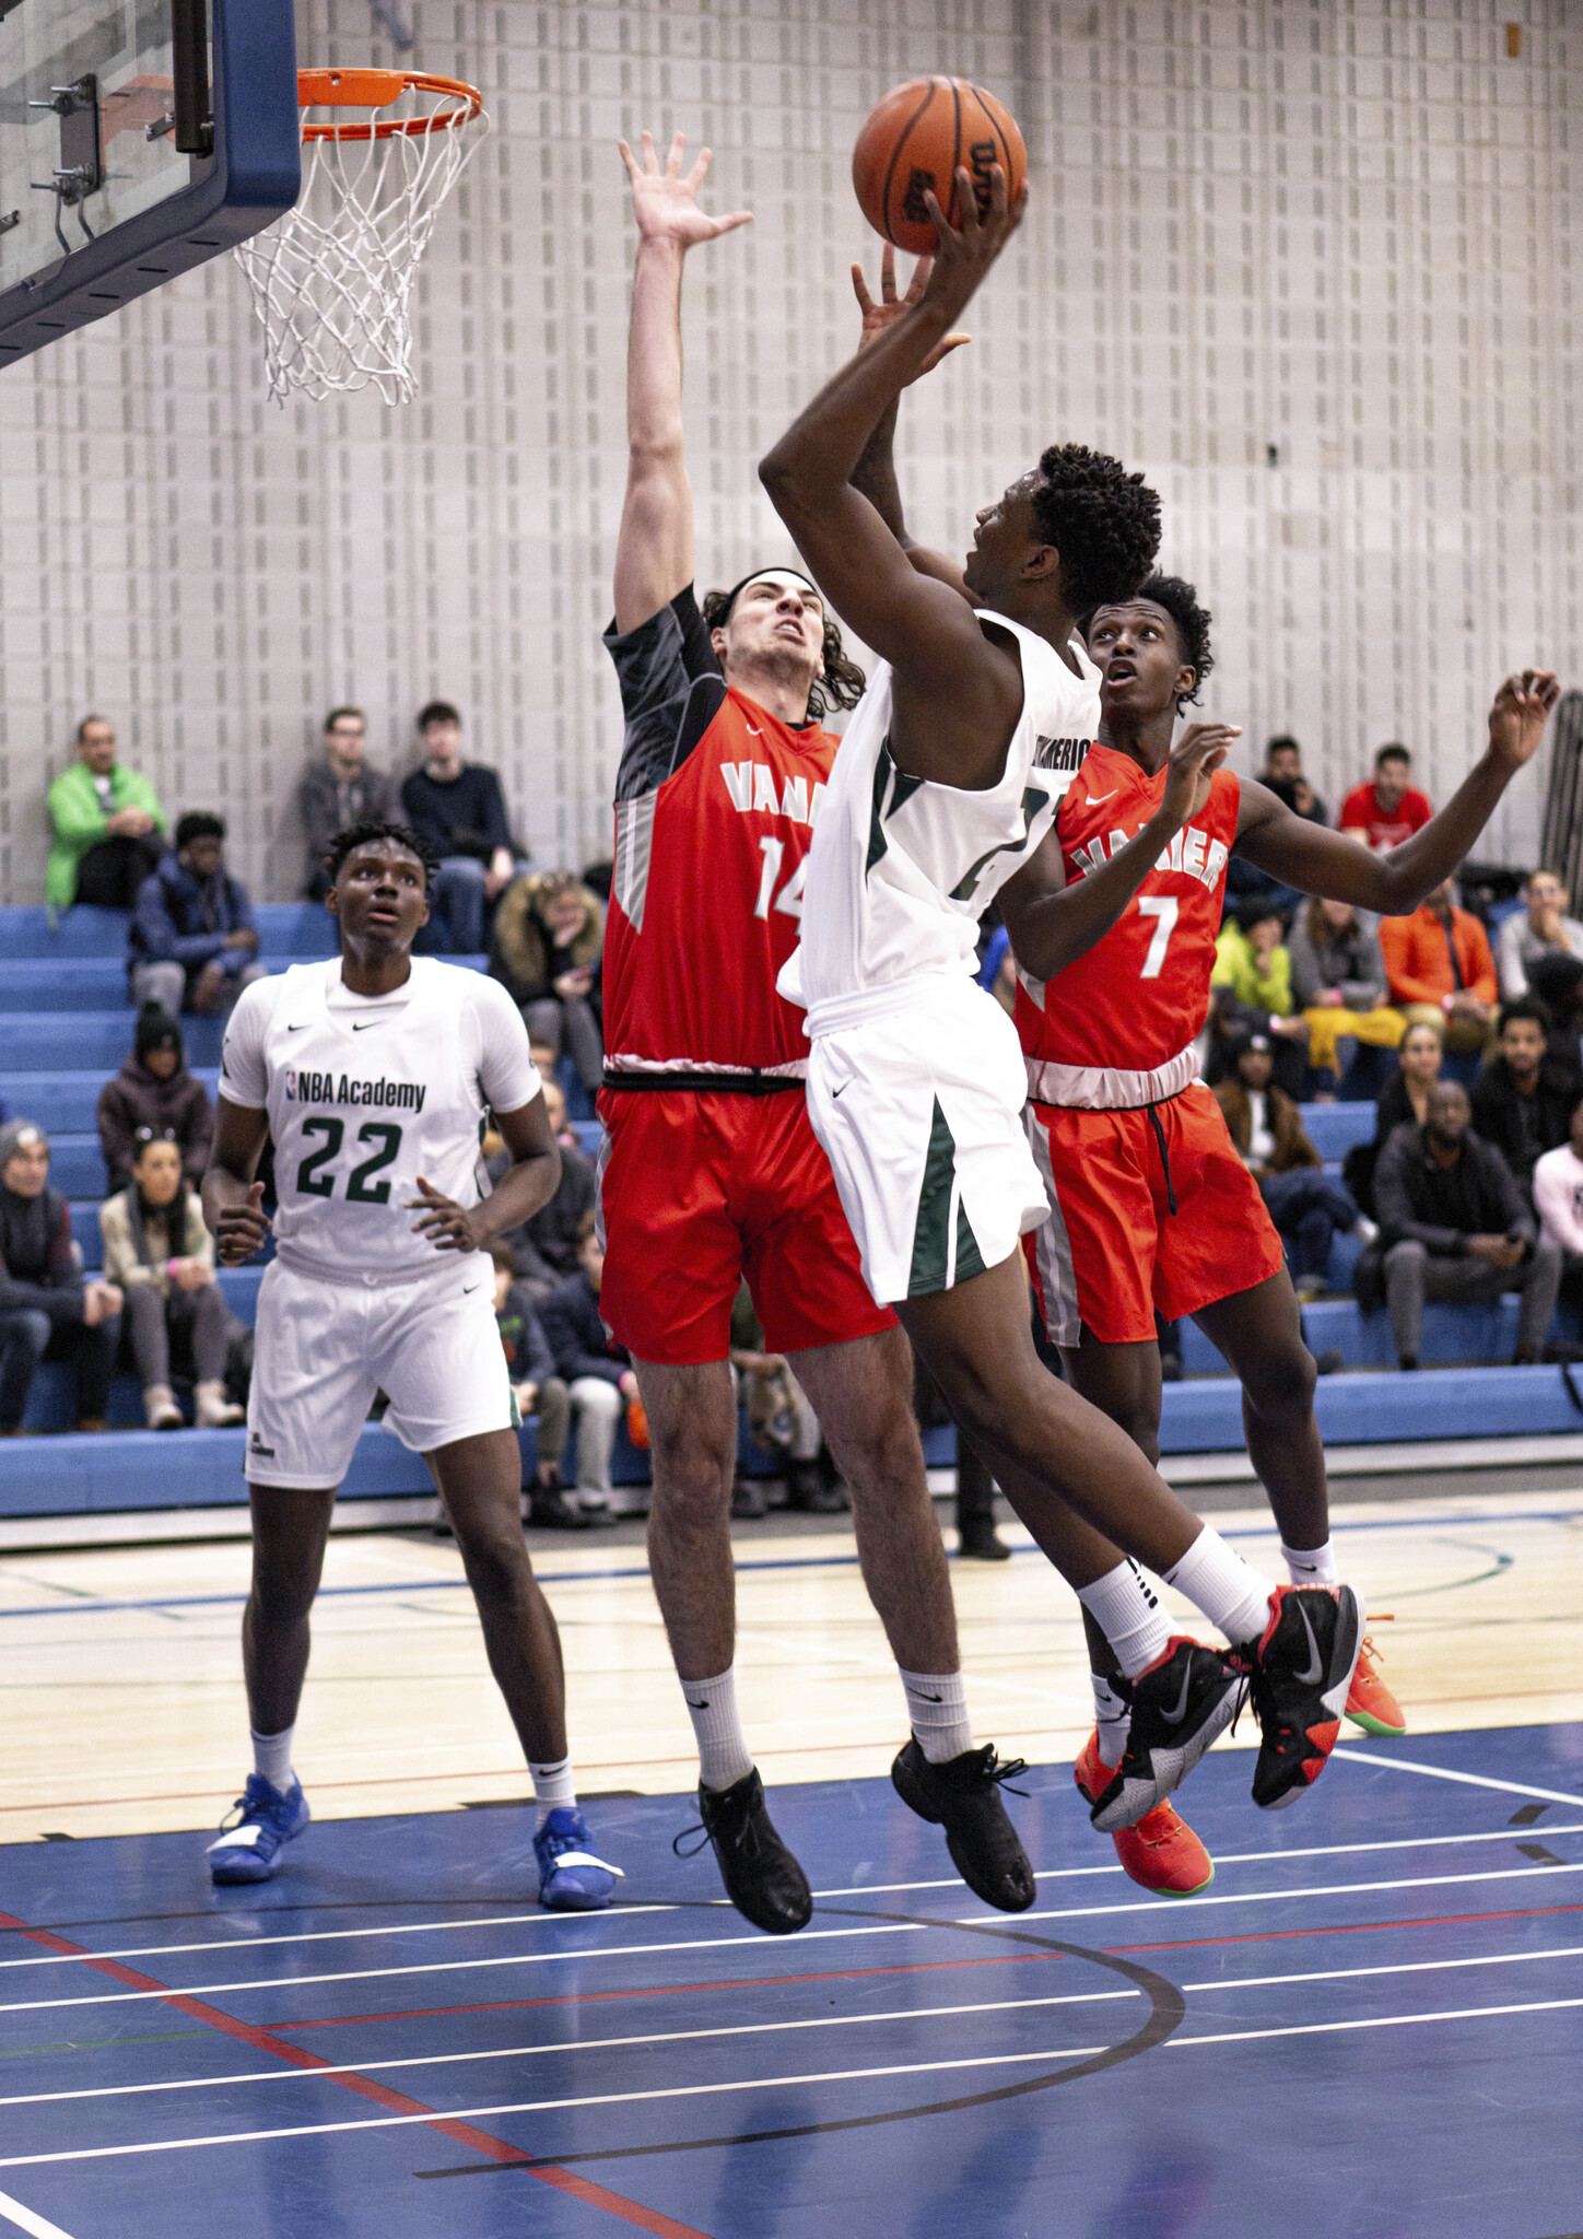
{"label": "red shorts of the long-haired player wearing number 14", "polygon": [[896,1325],[862,1278],[802,1088],[607,1088],[600,1314],[636,1361],[723,1361],[743,1274],[770,1352]]}

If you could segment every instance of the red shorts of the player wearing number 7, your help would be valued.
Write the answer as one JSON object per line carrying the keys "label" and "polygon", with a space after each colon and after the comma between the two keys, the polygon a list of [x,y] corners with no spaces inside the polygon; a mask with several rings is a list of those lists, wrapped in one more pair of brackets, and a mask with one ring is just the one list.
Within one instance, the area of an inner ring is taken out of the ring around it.
{"label": "red shorts of the player wearing number 7", "polygon": [[1153,1117],[1160,1135],[1146,1111],[1028,1106],[1050,1220],[1023,1249],[1057,1346],[1075,1346],[1081,1323],[1106,1346],[1151,1341],[1155,1312],[1196,1314],[1283,1265],[1258,1182],[1205,1084],[1155,1104]]}

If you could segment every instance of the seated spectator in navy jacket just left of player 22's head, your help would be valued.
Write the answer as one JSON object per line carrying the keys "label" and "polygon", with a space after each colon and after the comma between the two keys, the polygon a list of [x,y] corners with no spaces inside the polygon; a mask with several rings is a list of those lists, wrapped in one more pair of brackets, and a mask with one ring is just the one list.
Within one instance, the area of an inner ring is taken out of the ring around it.
{"label": "seated spectator in navy jacket just left of player 22's head", "polygon": [[132,1001],[161,1010],[231,1010],[255,978],[257,931],[246,887],[226,871],[226,822],[190,808],[177,844],[143,880],[130,931]]}

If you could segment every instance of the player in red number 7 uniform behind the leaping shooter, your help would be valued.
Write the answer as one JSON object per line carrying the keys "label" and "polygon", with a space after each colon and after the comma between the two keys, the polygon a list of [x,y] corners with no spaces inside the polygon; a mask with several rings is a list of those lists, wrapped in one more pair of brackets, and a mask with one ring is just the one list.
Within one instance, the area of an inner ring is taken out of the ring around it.
{"label": "player in red number 7 uniform behind the leaping shooter", "polygon": [[[1388,916],[1413,909],[1467,855],[1534,755],[1556,685],[1534,672],[1507,678],[1480,766],[1442,815],[1388,855],[1368,855],[1294,815],[1265,786],[1216,770],[1202,813],[1113,929],[1075,961],[1048,958],[1061,969],[1039,978],[1046,958],[1030,909],[1041,880],[1086,878],[1155,813],[1178,712],[1211,667],[1209,616],[1191,584],[1153,575],[1137,598],[1097,609],[1088,649],[1104,676],[1099,743],[1061,799],[1043,866],[1005,891],[1021,965],[1028,1133],[1052,1207],[1050,1222],[1028,1238],[1028,1261],[1072,1384],[1151,1460],[1160,1455],[1155,1310],[1167,1321],[1198,1321],[1240,1377],[1247,1453],[1270,1493],[1292,1583],[1330,1583],[1337,1565],[1314,1361],[1274,1222],[1198,1079],[1193,1046],[1209,1014],[1225,866],[1240,853],[1305,893]],[[1122,1758],[1128,1713],[1120,1666],[1084,1617],[1099,1722],[1075,1773],[1093,1800]],[[1368,1648],[1346,1711],[1368,1733],[1404,1731]],[[1115,1840],[1149,1887],[1191,1894],[1214,1874],[1169,1805]]]}

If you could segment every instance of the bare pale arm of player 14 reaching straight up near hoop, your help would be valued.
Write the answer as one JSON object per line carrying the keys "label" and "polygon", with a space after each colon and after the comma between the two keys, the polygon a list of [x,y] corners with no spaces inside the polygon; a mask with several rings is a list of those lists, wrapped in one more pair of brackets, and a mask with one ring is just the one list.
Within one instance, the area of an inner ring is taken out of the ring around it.
{"label": "bare pale arm of player 14 reaching straight up near hoop", "polygon": [[627,338],[627,502],[616,540],[616,629],[625,636],[692,582],[692,486],[681,439],[681,266],[694,242],[734,233],[752,217],[705,217],[699,188],[710,150],[681,175],[678,132],[661,170],[652,134],[643,163],[618,141],[638,219]]}

